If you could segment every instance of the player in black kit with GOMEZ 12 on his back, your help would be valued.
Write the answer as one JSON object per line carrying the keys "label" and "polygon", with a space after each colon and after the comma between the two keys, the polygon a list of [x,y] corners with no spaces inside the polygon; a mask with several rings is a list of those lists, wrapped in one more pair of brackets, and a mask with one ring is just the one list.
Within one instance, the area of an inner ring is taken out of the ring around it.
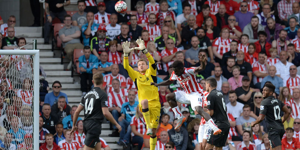
{"label": "player in black kit with GOMEZ 12 on his back", "polygon": [[[261,101],[261,108],[259,111],[259,116],[256,121],[251,123],[254,127],[255,124],[260,123],[262,120],[266,120],[267,131],[270,145],[273,150],[281,150],[281,139],[285,133],[283,123],[291,114],[291,111],[286,107],[286,105],[280,100],[274,98],[273,93],[275,91],[275,86],[271,83],[267,83],[263,88],[264,100]],[[284,112],[283,120],[281,120],[280,113]]]}

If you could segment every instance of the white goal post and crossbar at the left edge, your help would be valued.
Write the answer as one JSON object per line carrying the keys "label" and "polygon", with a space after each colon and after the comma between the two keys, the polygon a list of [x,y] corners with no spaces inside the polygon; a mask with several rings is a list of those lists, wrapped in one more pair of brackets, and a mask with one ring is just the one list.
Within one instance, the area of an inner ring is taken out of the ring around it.
{"label": "white goal post and crossbar at the left edge", "polygon": [[[30,78],[30,80],[31,80],[30,81],[31,82],[31,90],[30,91],[32,93],[31,98],[30,98],[31,103],[28,104],[30,106],[30,108],[32,108],[32,112],[31,112],[32,113],[32,115],[31,115],[32,118],[31,118],[31,120],[30,119],[29,120],[32,123],[30,129],[33,131],[31,133],[31,135],[33,137],[33,141],[32,141],[33,142],[33,147],[32,148],[33,149],[39,149],[39,86],[40,86],[39,85],[39,50],[36,50],[36,40],[33,40],[33,42],[30,42],[28,44],[31,44],[31,43],[33,43],[33,49],[32,50],[28,50],[28,49],[26,49],[26,50],[22,50],[22,49],[21,50],[19,50],[19,49],[16,49],[16,50],[0,50],[0,55],[1,55],[1,57],[5,56],[5,57],[9,58],[10,61],[13,60],[12,56],[14,56],[16,58],[16,60],[18,58],[21,61],[24,61],[25,63],[28,61],[27,58],[30,57],[29,58],[30,63],[28,63],[29,65],[27,65],[27,68],[25,68],[25,69],[27,69],[27,71],[32,73],[32,74],[29,75],[31,77]],[[26,46],[26,45],[24,45],[24,46]],[[2,60],[1,60],[1,63],[2,63]],[[3,64],[1,64],[1,65],[3,66]],[[11,64],[11,65],[16,65],[16,64]],[[23,72],[19,71],[19,73],[23,73]],[[17,77],[17,75],[15,75],[15,74],[13,74],[12,76]],[[7,82],[9,80],[9,82],[11,82],[11,83],[14,82],[14,80],[11,80],[9,78],[8,79],[5,78],[5,79],[2,79],[2,80],[7,80]],[[20,79],[20,80],[22,80],[22,79]],[[25,80],[26,80],[26,78],[22,80],[22,81],[24,81],[24,83],[22,83],[21,86],[24,86],[23,84],[25,84]],[[28,83],[30,83],[30,82],[28,82]],[[0,84],[2,84],[2,83],[0,83]],[[7,85],[8,85],[8,83],[7,83]],[[14,91],[14,94],[17,93],[16,92],[17,88],[20,88],[20,86],[16,87],[16,90]],[[13,91],[13,90],[11,90],[11,91]],[[18,91],[18,94],[19,93],[20,92]],[[23,105],[22,106],[24,106],[24,105],[27,105],[27,104],[24,104],[24,100],[23,100]],[[19,118],[21,118],[21,117],[19,117]],[[27,119],[27,122],[28,122],[28,119]]]}

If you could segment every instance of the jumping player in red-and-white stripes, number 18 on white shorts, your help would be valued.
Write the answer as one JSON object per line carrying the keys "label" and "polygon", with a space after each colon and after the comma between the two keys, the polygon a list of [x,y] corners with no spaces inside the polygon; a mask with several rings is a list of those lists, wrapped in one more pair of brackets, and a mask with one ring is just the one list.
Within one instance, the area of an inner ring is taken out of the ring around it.
{"label": "jumping player in red-and-white stripes, number 18 on white shorts", "polygon": [[191,104],[192,109],[194,111],[197,111],[198,114],[205,118],[205,120],[208,122],[208,125],[214,130],[214,135],[217,135],[221,133],[221,130],[215,125],[210,115],[203,110],[204,91],[202,86],[198,84],[196,80],[196,73],[205,69],[206,57],[204,57],[204,55],[202,54],[200,55],[201,56],[198,56],[200,60],[200,66],[185,68],[183,67],[183,63],[181,61],[174,61],[172,64],[174,71],[172,72],[170,79],[159,84],[152,83],[152,85],[168,86],[175,80],[177,80],[183,87],[185,92],[177,91],[166,95],[167,102],[169,102],[173,112],[176,114],[176,117],[178,119],[175,129],[179,128],[186,120],[186,117],[181,114],[179,107],[177,106],[177,102],[181,102],[183,104]]}

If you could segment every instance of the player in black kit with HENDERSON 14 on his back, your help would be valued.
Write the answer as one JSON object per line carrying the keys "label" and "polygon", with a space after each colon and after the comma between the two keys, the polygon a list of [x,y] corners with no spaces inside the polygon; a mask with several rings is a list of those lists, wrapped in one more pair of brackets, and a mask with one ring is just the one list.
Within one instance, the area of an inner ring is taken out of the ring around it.
{"label": "player in black kit with HENDERSON 14 on his back", "polygon": [[122,130],[121,126],[108,111],[107,94],[101,90],[103,83],[102,74],[95,73],[92,82],[94,88],[83,96],[73,116],[73,128],[70,132],[70,135],[72,135],[77,130],[77,118],[80,111],[84,109],[83,132],[86,134],[84,150],[101,149],[99,135],[101,134],[101,124],[104,117],[113,123],[119,129],[119,132]]}

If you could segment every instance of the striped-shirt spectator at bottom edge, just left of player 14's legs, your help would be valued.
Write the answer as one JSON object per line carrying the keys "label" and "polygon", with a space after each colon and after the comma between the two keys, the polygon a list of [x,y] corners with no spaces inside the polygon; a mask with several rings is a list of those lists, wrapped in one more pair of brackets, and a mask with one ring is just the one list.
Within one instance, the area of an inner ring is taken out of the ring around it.
{"label": "striped-shirt spectator at bottom edge, just left of player 14's legs", "polygon": [[64,150],[82,150],[80,144],[73,140],[74,135],[70,135],[71,129],[66,130],[64,136],[66,139],[58,142],[58,146]]}

